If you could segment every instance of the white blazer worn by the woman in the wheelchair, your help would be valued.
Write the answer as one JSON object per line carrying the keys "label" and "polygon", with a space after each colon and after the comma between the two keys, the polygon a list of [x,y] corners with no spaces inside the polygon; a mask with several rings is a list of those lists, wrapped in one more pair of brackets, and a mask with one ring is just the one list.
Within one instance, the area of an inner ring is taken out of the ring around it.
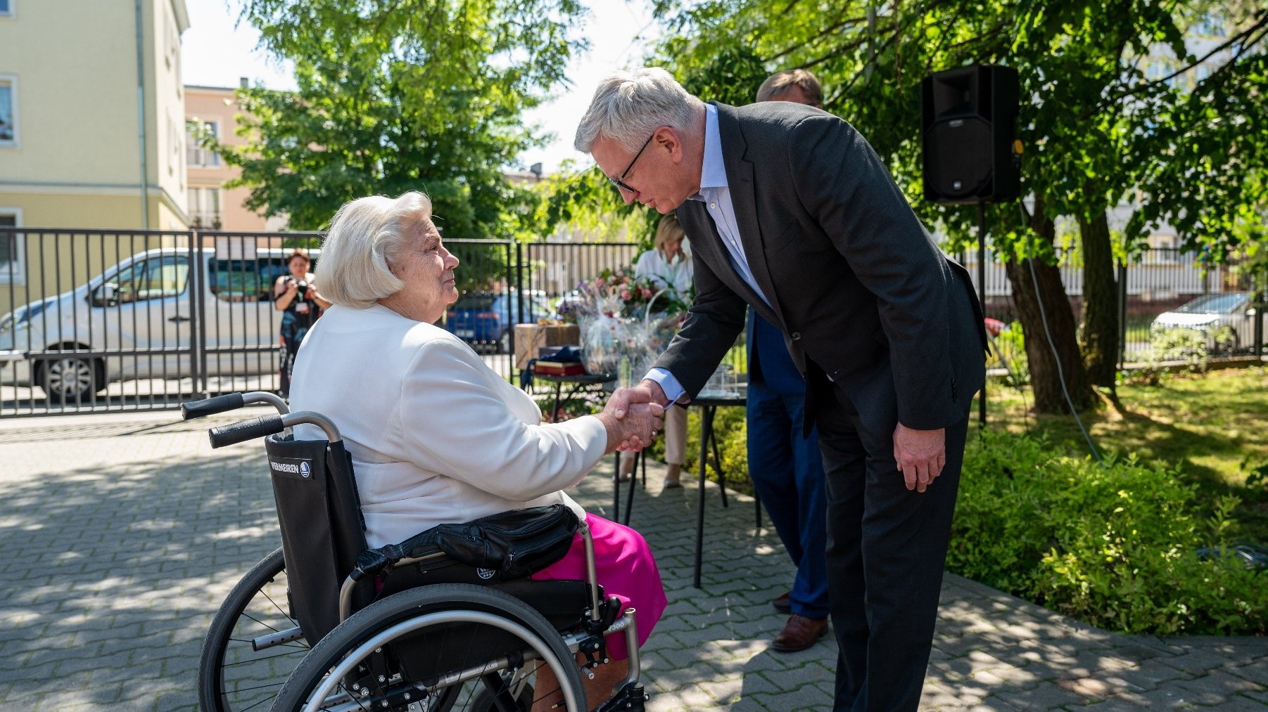
{"label": "white blazer worn by the woman in the wheelchair", "polygon": [[[563,503],[598,462],[597,418],[541,424],[527,394],[454,334],[375,304],[331,307],[295,356],[293,410],[328,416],[353,456],[370,546],[444,522]],[[295,437],[322,437],[299,426]]]}

